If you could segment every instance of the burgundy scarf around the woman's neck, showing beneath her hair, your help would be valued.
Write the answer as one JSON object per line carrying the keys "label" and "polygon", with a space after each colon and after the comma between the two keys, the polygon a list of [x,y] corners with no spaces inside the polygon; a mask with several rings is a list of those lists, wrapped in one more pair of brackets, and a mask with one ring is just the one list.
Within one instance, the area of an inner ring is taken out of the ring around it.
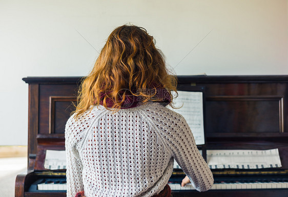
{"label": "burgundy scarf around the woman's neck, showing beneath her hair", "polygon": [[[151,89],[151,91],[153,92],[154,89]],[[146,93],[148,93],[148,92],[146,92]],[[102,93],[100,95],[100,97],[101,97],[100,98],[100,105],[103,105],[104,96],[105,96],[105,93]],[[152,97],[152,99],[160,99],[160,101],[157,101],[157,102],[161,103],[163,106],[166,106],[169,103],[171,103],[171,96],[170,96],[169,92],[167,91],[167,89],[165,89],[165,88],[156,89],[156,94]],[[122,100],[122,96],[119,95],[118,101],[121,101],[121,100]],[[125,96],[125,100],[121,104],[121,109],[128,109],[128,108],[137,107],[141,103],[142,103],[142,97],[141,96],[135,96],[131,93],[131,95]],[[106,105],[109,108],[113,107],[114,106],[113,100],[106,98]]]}

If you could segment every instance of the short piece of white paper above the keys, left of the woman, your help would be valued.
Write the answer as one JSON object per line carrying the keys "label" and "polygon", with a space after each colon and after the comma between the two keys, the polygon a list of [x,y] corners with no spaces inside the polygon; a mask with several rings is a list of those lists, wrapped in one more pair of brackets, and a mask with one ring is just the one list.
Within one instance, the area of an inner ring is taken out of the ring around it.
{"label": "short piece of white paper above the keys, left of the woman", "polygon": [[66,169],[65,150],[46,150],[44,167],[49,170]]}

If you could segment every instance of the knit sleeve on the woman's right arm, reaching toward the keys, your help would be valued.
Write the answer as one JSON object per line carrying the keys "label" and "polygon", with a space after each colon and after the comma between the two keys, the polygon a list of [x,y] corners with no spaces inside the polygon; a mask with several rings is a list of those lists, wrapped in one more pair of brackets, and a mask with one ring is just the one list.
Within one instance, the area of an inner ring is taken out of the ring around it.
{"label": "knit sleeve on the woman's right arm, reaching toward the keys", "polygon": [[188,175],[194,188],[198,191],[210,189],[214,182],[213,174],[199,153],[184,117],[169,109],[163,110],[159,116],[164,143],[167,143],[174,159]]}

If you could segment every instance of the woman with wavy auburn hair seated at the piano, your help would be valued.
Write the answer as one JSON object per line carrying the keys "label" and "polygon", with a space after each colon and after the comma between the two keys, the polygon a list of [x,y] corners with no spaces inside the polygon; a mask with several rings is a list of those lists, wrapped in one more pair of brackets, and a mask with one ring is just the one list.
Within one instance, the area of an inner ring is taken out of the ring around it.
{"label": "woman with wavy auburn hair seated at the piano", "polygon": [[198,191],[213,176],[184,118],[172,105],[168,74],[153,37],[121,26],[108,37],[79,89],[66,124],[67,196],[169,196],[173,159]]}

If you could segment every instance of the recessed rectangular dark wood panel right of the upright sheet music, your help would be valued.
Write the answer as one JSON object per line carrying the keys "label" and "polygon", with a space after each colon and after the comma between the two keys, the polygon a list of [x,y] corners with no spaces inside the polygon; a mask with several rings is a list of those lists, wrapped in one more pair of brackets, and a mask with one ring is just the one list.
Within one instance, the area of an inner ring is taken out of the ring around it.
{"label": "recessed rectangular dark wood panel right of the upright sheet music", "polygon": [[205,128],[209,133],[283,132],[283,97],[210,96]]}

